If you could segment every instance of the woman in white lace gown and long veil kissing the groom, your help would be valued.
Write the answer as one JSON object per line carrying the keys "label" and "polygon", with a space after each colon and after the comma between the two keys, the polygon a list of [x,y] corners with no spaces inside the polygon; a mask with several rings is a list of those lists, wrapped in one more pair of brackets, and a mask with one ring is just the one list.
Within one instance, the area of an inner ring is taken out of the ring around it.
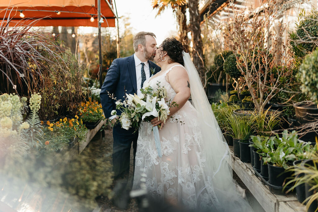
{"label": "woman in white lace gown and long veil kissing the groom", "polygon": [[[161,71],[145,82],[167,89],[166,123],[157,118],[142,123],[137,140],[133,189],[146,176],[147,191],[156,199],[204,211],[252,211],[236,191],[229,147],[211,110],[201,80],[188,53],[175,38],[156,50]],[[188,101],[191,95],[192,104]],[[158,156],[153,126],[159,130]]]}

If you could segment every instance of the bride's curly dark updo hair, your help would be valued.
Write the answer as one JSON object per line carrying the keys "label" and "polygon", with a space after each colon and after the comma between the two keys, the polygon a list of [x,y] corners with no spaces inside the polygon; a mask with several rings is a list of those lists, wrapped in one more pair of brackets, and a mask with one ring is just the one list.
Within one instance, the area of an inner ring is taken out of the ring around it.
{"label": "bride's curly dark updo hair", "polygon": [[176,38],[167,38],[162,42],[161,47],[163,51],[167,51],[170,57],[168,63],[180,63],[184,65],[182,51],[185,52],[185,48],[180,41]]}

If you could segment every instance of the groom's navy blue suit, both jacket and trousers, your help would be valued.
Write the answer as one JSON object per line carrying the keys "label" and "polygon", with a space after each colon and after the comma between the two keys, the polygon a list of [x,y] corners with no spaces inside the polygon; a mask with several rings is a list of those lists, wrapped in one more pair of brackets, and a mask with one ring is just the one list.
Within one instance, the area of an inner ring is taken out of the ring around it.
{"label": "groom's navy blue suit, both jacket and trousers", "polygon": [[[148,61],[149,69],[155,69],[155,73],[161,68],[155,63]],[[151,72],[150,72],[151,75]],[[111,111],[115,110],[115,100],[109,98],[107,91],[118,100],[123,100],[126,93],[137,93],[136,68],[134,55],[126,58],[114,59],[107,71],[107,75],[100,91],[100,101],[103,106],[105,117],[111,116]],[[117,114],[121,114],[117,110]],[[135,155],[137,148],[138,130],[121,128],[120,123],[113,128],[113,172],[114,180],[123,179],[128,181],[130,148],[133,143],[134,148],[134,170]]]}

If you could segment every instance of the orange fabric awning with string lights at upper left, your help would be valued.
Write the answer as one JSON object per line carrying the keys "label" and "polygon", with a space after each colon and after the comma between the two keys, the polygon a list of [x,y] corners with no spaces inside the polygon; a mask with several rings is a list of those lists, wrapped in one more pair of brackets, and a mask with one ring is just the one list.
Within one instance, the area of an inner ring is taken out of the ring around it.
{"label": "orange fabric awning with string lights at upper left", "polygon": [[[104,18],[101,27],[114,27],[115,14],[106,1],[100,0],[100,13]],[[15,25],[22,18],[20,11],[26,18],[43,18],[34,26],[93,26],[97,23],[97,0],[0,0],[0,11],[11,6],[11,25]],[[9,10],[0,13],[0,19],[7,19]],[[57,14],[60,12],[60,14]],[[94,21],[91,22],[91,17]],[[106,20],[105,20],[106,18]],[[24,23],[25,24],[25,23]]]}

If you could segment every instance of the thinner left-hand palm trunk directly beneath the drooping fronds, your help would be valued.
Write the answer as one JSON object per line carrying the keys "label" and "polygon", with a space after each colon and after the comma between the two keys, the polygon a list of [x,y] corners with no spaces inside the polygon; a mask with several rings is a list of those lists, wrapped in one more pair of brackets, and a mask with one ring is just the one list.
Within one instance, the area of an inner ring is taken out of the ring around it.
{"label": "thinner left-hand palm trunk directly beneath the drooping fronds", "polygon": [[187,9],[187,5],[181,5],[177,8],[177,21],[180,26],[180,41],[185,47],[186,52],[189,52],[189,38],[188,38],[188,26],[187,26],[187,17],[185,15]]}

